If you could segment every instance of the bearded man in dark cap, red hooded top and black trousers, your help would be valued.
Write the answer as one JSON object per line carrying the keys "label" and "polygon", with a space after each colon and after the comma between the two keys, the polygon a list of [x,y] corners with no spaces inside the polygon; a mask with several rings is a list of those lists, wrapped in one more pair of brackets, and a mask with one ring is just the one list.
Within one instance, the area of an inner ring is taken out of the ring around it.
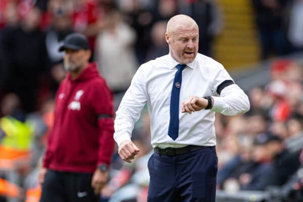
{"label": "bearded man in dark cap, red hooded top and black trousers", "polygon": [[61,83],[49,134],[43,168],[40,201],[98,201],[108,178],[114,150],[113,97],[95,63],[87,38],[67,35],[65,51],[68,71]]}

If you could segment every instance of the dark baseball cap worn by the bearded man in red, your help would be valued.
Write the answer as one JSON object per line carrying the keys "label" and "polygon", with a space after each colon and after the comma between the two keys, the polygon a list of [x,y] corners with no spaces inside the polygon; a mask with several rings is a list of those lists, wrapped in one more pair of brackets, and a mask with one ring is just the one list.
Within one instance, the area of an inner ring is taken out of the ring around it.
{"label": "dark baseball cap worn by the bearded man in red", "polygon": [[59,52],[66,49],[73,49],[75,51],[79,49],[89,49],[88,40],[85,35],[80,33],[71,33],[64,39],[64,43],[59,48]]}

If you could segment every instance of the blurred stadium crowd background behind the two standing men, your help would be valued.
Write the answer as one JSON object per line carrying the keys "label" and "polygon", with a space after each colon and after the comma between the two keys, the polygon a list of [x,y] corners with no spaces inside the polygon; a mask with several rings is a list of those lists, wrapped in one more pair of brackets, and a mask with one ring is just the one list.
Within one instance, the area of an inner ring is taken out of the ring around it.
{"label": "blurred stadium crowd background behind the two standing men", "polygon": [[[217,201],[303,201],[303,0],[0,0],[0,201],[39,200],[64,37],[89,37],[117,109],[139,65],[168,53],[176,14],[250,99],[248,113],[216,117]],[[116,148],[100,201],[146,201],[146,109],[132,137],[140,154],[127,164]]]}

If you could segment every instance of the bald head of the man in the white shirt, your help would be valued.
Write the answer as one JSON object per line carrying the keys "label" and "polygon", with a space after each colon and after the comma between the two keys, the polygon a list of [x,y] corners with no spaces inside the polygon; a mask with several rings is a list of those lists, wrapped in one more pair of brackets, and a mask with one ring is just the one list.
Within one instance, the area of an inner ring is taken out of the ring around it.
{"label": "bald head of the man in the white shirt", "polygon": [[170,54],[180,64],[191,63],[198,52],[199,28],[186,15],[176,15],[168,23],[165,33]]}

